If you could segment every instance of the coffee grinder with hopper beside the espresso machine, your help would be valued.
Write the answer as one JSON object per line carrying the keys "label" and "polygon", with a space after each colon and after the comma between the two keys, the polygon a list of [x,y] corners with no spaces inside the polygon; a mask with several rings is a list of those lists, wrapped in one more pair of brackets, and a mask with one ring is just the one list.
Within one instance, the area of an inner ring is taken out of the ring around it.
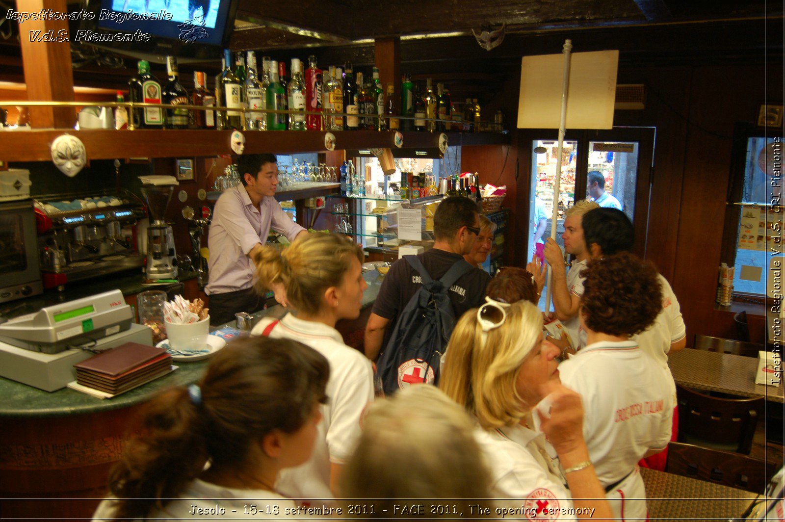
{"label": "coffee grinder with hopper beside the espresso machine", "polygon": [[164,221],[166,207],[172,199],[177,179],[173,176],[141,176],[141,192],[148,204],[147,268],[148,279],[177,278],[177,255],[174,252],[174,235],[170,224]]}

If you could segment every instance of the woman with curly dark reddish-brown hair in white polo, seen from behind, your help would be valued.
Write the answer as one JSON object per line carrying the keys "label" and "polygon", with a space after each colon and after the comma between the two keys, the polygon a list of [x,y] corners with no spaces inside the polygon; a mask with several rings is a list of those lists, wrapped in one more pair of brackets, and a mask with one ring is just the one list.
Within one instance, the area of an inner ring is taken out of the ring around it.
{"label": "woman with curly dark reddish-brown hair in white polo, seen from behind", "polygon": [[559,365],[561,381],[582,396],[586,445],[616,517],[644,519],[637,462],[667,446],[674,397],[670,375],[631,338],[655,322],[662,287],[651,261],[627,252],[589,261],[585,277],[586,347]]}

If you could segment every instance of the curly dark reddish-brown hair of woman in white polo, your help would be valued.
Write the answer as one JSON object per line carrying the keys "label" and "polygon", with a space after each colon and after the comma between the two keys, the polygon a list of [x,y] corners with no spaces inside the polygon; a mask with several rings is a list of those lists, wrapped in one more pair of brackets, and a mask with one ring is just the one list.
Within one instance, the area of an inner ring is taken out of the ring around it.
{"label": "curly dark reddish-brown hair of woman in white polo", "polygon": [[663,286],[652,261],[629,252],[589,261],[581,272],[586,327],[610,335],[640,334],[663,309]]}

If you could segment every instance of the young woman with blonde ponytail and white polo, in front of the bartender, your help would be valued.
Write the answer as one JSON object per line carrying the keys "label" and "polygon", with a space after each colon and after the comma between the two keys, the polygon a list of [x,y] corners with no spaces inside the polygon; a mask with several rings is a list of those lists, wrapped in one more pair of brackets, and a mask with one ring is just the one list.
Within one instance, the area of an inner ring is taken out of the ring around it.
{"label": "young woman with blonde ponytail and white polo, in front of the bartender", "polygon": [[279,491],[291,498],[334,498],[341,466],[360,437],[360,416],[374,399],[371,362],[345,345],[338,319],[356,319],[362,308],[363,250],[343,235],[309,234],[283,250],[265,246],[256,258],[257,289],[279,285],[297,312],[262,319],[251,335],[296,339],[330,362],[324,421],[309,462],[282,473]]}

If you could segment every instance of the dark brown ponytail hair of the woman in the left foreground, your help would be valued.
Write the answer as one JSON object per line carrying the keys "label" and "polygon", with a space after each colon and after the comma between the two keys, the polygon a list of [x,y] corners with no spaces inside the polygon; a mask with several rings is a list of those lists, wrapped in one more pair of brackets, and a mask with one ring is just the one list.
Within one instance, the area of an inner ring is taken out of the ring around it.
{"label": "dark brown ponytail hair of the woman in the left foreground", "polygon": [[212,465],[243,470],[251,444],[272,430],[293,433],[323,402],[330,366],[316,350],[288,339],[232,341],[199,382],[161,392],[135,419],[133,436],[111,470],[116,519],[143,519],[177,498]]}

